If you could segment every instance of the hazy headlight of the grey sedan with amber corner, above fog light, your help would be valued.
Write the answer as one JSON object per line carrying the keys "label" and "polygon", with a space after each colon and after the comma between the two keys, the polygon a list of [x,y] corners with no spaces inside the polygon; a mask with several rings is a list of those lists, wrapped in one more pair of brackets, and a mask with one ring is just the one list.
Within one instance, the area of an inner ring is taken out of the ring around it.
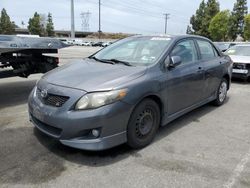
{"label": "hazy headlight of the grey sedan with amber corner, above fog light", "polygon": [[127,95],[126,89],[114,90],[108,92],[96,92],[84,95],[75,106],[75,110],[86,110],[98,108],[111,104],[124,98]]}

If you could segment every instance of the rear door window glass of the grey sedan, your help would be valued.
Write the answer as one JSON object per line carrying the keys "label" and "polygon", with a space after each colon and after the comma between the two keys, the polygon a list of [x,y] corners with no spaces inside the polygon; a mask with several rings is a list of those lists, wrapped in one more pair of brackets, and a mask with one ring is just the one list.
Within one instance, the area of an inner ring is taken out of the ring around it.
{"label": "rear door window glass of the grey sedan", "polygon": [[209,42],[205,40],[197,40],[201,52],[201,59],[208,60],[218,56],[217,51]]}

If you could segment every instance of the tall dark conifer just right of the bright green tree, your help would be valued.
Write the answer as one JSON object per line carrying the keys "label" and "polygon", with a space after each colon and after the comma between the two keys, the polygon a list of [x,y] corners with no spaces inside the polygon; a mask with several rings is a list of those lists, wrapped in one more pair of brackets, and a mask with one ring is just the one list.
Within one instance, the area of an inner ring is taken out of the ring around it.
{"label": "tall dark conifer just right of the bright green tree", "polygon": [[244,19],[247,13],[247,0],[237,0],[229,20],[229,37],[231,40],[235,40],[238,35],[243,37]]}

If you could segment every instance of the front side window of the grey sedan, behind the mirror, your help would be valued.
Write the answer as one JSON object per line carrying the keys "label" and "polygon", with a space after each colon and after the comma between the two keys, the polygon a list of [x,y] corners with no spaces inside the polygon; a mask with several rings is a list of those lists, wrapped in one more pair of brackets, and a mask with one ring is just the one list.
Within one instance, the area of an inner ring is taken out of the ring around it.
{"label": "front side window of the grey sedan, behind the mirror", "polygon": [[179,42],[172,50],[171,57],[179,56],[183,64],[192,63],[198,60],[195,43],[193,40]]}

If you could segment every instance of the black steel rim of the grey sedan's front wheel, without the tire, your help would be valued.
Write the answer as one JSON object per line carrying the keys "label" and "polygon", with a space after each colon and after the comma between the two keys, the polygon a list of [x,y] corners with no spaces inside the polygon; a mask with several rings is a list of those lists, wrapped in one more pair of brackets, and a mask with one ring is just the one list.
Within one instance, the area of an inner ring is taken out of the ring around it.
{"label": "black steel rim of the grey sedan's front wheel, without the tire", "polygon": [[154,124],[153,112],[151,109],[144,110],[136,121],[136,135],[142,138],[148,135]]}

